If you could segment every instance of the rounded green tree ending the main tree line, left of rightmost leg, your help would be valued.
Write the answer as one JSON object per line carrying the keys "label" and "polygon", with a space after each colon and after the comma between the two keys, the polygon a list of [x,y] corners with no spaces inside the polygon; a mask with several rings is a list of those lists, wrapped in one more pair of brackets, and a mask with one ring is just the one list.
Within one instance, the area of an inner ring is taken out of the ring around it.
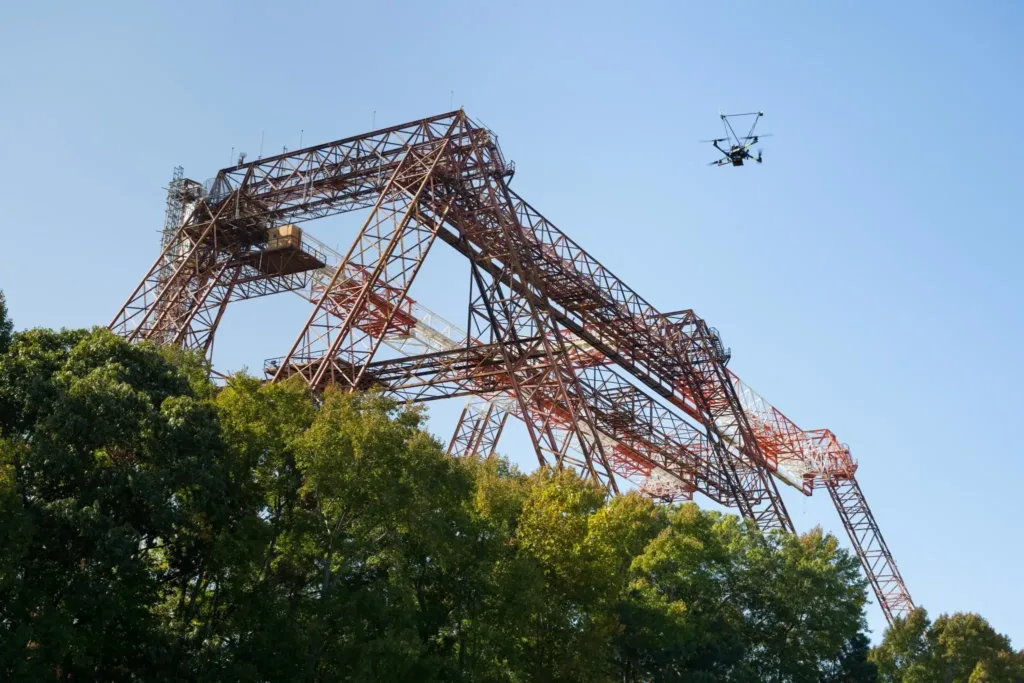
{"label": "rounded green tree ending the main tree line, left of rightmost leg", "polygon": [[863,628],[856,559],[815,529],[764,537],[689,504],[633,563],[634,680],[819,681]]}

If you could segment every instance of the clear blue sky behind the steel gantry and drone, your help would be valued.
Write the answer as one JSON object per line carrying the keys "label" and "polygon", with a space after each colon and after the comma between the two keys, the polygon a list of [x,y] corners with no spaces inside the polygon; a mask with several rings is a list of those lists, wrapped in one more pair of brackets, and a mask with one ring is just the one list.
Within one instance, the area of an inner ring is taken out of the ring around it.
{"label": "clear blue sky behind the steel gantry and drone", "polygon": [[[521,195],[656,305],[718,327],[799,425],[849,442],[920,604],[979,611],[1024,647],[1024,7],[566,5],[6,3],[16,326],[109,322],[156,256],[173,166],[204,180],[261,131],[271,154],[300,130],[446,111],[454,90]],[[765,164],[706,166],[720,108],[766,113]],[[464,315],[438,267],[415,293]],[[305,314],[287,303],[239,306],[218,362],[283,353]],[[444,437],[455,411],[434,412]],[[793,494],[801,528],[842,533],[826,497]]]}

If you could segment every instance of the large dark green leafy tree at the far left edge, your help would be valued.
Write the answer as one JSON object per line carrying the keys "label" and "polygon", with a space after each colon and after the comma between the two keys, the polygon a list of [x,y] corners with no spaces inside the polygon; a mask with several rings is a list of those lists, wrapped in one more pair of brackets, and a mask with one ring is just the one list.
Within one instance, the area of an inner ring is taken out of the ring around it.
{"label": "large dark green leafy tree at the far left edge", "polygon": [[187,365],[105,331],[20,334],[0,439],[0,677],[183,675],[166,596],[188,594],[233,514]]}

